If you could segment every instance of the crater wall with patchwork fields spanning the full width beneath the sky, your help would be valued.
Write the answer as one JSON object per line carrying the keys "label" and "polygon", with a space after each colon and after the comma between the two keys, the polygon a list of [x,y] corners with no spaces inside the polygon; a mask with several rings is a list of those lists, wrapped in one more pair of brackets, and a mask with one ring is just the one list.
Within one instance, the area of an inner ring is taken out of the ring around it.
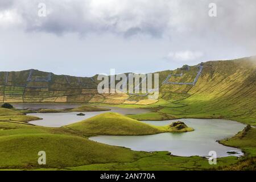
{"label": "crater wall with patchwork fields spanning the full width beneath the sky", "polygon": [[208,61],[195,66],[185,65],[174,71],[158,72],[158,100],[149,100],[148,96],[139,94],[98,94],[97,85],[100,81],[97,80],[97,75],[74,77],[34,69],[0,72],[0,102],[96,102],[141,105],[166,105],[175,102],[180,105],[189,104],[197,109],[205,105],[211,108],[232,107],[235,110],[249,107],[254,109],[255,62],[255,57]]}

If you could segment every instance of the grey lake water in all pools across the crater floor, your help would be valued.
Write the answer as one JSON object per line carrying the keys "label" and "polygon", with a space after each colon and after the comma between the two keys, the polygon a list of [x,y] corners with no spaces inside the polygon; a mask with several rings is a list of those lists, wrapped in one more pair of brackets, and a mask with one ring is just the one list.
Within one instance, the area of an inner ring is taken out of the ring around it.
{"label": "grey lake water in all pools across the crater floor", "polygon": [[[24,109],[69,109],[77,107],[79,104],[18,104],[16,108]],[[111,111],[120,114],[139,114],[146,113],[146,109],[126,109],[118,107],[108,107]],[[32,121],[30,123],[46,127],[61,127],[81,121],[86,118],[93,117],[100,112],[82,112],[85,116],[77,116],[80,112],[72,113],[32,113],[43,118],[40,121]],[[217,157],[225,156],[241,156],[242,151],[238,148],[223,146],[216,142],[229,137],[233,137],[238,131],[241,131],[245,125],[235,121],[225,119],[177,119],[170,121],[143,121],[156,126],[169,125],[174,121],[183,121],[189,127],[193,127],[195,131],[188,133],[162,133],[144,136],[98,136],[91,137],[90,140],[96,142],[110,144],[113,146],[121,146],[131,148],[135,151],[169,151],[172,155],[177,156],[208,156],[209,151],[216,151]],[[228,154],[228,151],[236,151],[237,154]]]}

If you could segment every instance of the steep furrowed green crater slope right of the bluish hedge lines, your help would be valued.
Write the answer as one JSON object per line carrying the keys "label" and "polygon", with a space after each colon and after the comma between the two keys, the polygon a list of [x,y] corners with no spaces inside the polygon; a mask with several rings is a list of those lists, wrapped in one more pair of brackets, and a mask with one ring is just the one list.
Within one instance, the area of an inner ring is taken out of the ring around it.
{"label": "steep furrowed green crater slope right of the bluish hedge lines", "polygon": [[220,117],[256,125],[255,60],[205,63],[199,81],[188,92],[191,96],[175,102],[185,106],[162,111],[181,117]]}

